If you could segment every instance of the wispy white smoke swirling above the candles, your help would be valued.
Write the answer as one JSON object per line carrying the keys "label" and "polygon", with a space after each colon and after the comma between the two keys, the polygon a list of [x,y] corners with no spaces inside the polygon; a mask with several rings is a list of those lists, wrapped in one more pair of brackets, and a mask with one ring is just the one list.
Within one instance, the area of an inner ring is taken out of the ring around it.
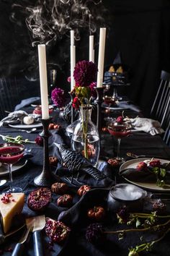
{"label": "wispy white smoke swirling above the candles", "polygon": [[[23,1],[22,1],[23,2]],[[32,46],[39,43],[51,45],[63,35],[69,36],[75,30],[75,40],[80,40],[80,30],[85,28],[95,33],[97,27],[105,25],[107,9],[102,0],[38,0],[34,6],[13,4],[12,19],[16,22],[15,11],[25,12],[25,22],[32,35]],[[27,1],[26,1],[27,2]],[[23,8],[24,7],[24,8]]]}

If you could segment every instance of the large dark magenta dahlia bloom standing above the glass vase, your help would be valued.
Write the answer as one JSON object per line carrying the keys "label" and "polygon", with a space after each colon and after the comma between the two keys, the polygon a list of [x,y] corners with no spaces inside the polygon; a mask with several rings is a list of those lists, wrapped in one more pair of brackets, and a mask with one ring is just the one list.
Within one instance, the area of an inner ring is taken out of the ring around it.
{"label": "large dark magenta dahlia bloom standing above the glass vase", "polygon": [[81,87],[89,86],[96,80],[97,65],[92,61],[79,61],[74,68],[73,77]]}

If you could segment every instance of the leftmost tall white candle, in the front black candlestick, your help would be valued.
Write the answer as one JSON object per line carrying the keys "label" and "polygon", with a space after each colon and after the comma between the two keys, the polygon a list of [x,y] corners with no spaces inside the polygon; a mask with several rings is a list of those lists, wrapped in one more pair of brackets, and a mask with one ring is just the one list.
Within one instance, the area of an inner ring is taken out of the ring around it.
{"label": "leftmost tall white candle, in the front black candlestick", "polygon": [[45,51],[44,44],[38,45],[38,60],[39,60],[39,72],[40,72],[42,119],[49,119],[48,76],[47,76],[47,64],[46,64],[46,51]]}

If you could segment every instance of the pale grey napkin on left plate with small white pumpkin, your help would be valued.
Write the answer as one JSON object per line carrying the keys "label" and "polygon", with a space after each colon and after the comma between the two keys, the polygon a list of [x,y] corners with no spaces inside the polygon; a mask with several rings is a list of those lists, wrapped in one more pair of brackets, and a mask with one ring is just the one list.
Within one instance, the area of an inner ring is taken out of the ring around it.
{"label": "pale grey napkin on left plate with small white pumpkin", "polygon": [[37,114],[27,114],[27,112],[19,110],[9,113],[8,116],[4,117],[0,121],[0,127],[7,126],[9,124],[23,124],[23,119],[25,116],[32,116],[35,122],[40,118],[40,115]]}

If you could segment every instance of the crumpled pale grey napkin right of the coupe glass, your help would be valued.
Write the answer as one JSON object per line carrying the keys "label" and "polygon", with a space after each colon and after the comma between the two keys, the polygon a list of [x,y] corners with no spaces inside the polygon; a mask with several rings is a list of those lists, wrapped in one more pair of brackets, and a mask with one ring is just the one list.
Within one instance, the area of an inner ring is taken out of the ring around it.
{"label": "crumpled pale grey napkin right of the coupe glass", "polygon": [[134,129],[148,132],[151,135],[161,135],[165,132],[164,129],[161,128],[160,122],[153,119],[135,117],[134,119],[128,119],[128,122],[130,122]]}

